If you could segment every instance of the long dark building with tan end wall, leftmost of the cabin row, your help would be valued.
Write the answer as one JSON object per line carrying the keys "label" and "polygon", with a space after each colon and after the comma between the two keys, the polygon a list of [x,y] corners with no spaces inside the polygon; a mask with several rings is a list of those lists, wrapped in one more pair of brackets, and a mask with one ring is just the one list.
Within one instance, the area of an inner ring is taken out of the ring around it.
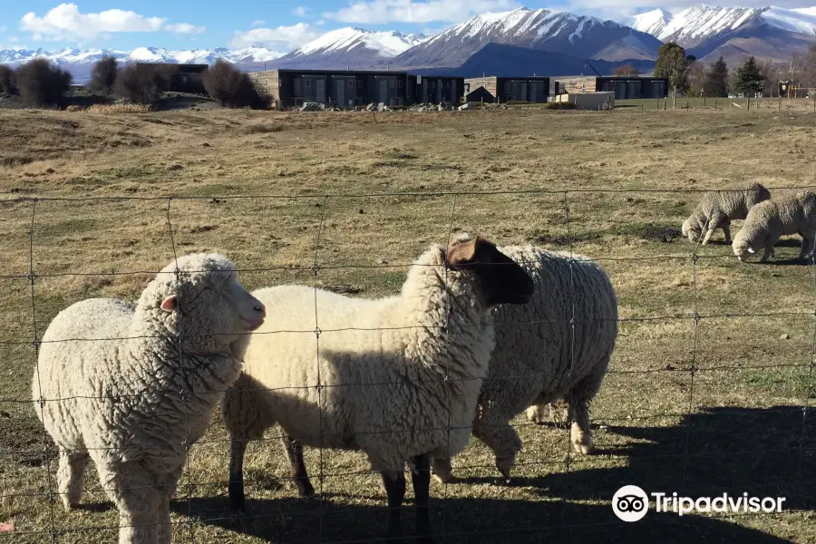
{"label": "long dark building with tan end wall, leftmost of the cabin row", "polygon": [[371,102],[383,102],[387,106],[414,102],[415,91],[404,72],[280,69],[249,75],[258,91],[267,94],[278,109],[304,102],[346,107]]}

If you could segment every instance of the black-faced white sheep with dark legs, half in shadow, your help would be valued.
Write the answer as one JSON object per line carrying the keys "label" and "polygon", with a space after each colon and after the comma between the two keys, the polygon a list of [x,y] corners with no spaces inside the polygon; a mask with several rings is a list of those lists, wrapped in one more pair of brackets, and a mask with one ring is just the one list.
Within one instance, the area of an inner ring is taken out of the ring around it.
{"label": "black-faced white sheep with dark legs, half in shadow", "polygon": [[274,319],[252,335],[223,403],[233,505],[244,506],[248,440],[279,423],[290,459],[300,454],[302,461],[293,441],[366,453],[383,475],[393,539],[402,535],[409,461],[416,531],[429,538],[430,460],[467,446],[494,344],[490,309],[523,304],[533,288],[493,244],[465,237],[447,249],[432,245],[400,296],[370,300],[297,286],[257,291]]}

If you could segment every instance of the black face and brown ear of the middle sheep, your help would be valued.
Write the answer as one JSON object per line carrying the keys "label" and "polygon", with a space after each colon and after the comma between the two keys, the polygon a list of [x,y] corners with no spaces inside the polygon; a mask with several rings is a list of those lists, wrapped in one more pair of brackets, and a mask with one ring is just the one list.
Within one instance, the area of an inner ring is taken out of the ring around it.
{"label": "black face and brown ear of the middle sheep", "polygon": [[454,270],[476,278],[485,306],[527,304],[535,291],[527,272],[484,238],[453,242],[446,260]]}

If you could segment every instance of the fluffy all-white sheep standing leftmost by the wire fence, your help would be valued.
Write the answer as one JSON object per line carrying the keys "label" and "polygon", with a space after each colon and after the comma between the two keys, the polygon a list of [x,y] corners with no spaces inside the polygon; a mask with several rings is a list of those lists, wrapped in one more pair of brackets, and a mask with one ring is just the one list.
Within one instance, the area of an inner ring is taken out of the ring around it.
{"label": "fluffy all-white sheep standing leftmost by the wire fence", "polygon": [[180,257],[134,306],[92,298],[45,331],[34,371],[37,416],[59,448],[65,509],[90,459],[119,509],[120,544],[168,544],[170,498],[189,445],[240,373],[264,306],[219,255]]}

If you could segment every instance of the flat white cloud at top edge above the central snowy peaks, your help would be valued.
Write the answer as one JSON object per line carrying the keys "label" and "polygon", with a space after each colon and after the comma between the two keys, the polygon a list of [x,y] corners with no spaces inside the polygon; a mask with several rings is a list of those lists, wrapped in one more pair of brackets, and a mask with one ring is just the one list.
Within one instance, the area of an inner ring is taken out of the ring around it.
{"label": "flat white cloud at top edge above the central snowy peaks", "polygon": [[[620,1],[620,0],[618,0]],[[336,12],[323,14],[326,19],[343,23],[460,23],[484,12],[508,11],[520,7],[516,0],[358,0]]]}

